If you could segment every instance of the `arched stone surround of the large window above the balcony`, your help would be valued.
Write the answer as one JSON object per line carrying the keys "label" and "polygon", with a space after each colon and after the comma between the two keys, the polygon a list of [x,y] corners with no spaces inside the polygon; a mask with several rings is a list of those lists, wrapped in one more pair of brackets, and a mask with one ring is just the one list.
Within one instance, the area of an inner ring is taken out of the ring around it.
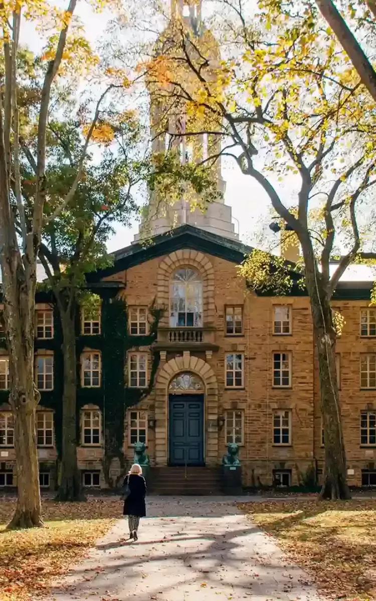
{"label": "arched stone surround of the large window above the balcony", "polygon": [[[202,277],[203,295],[203,326],[215,325],[215,303],[214,303],[214,268],[203,252],[189,249],[171,252],[164,257],[158,267],[158,307],[170,307],[170,279],[174,271],[179,267],[191,267],[199,272]],[[169,313],[165,311],[159,325],[168,328],[170,321]]]}

